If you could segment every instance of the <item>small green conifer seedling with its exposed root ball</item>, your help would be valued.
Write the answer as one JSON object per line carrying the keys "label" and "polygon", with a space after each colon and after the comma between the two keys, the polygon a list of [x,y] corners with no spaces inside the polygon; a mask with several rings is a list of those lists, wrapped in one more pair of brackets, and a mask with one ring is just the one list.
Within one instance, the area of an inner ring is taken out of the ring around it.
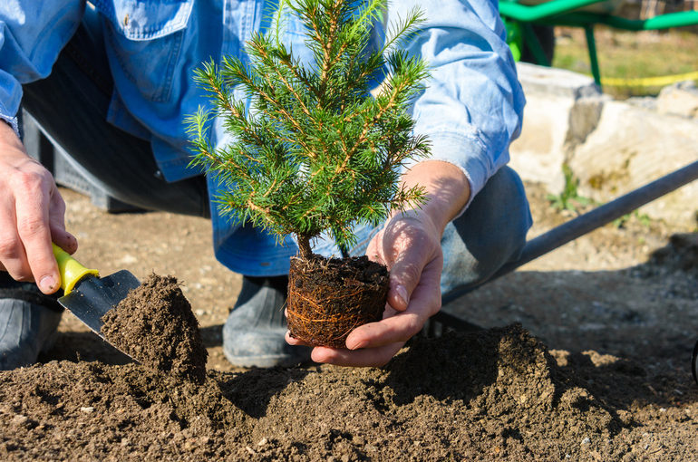
{"label": "small green conifer seedling with its exposed root ball", "polygon": [[[378,226],[421,206],[423,188],[406,188],[400,178],[408,160],[429,153],[428,140],[412,133],[407,111],[427,66],[402,49],[422,14],[415,10],[390,24],[382,47],[372,49],[372,27],[387,1],[354,5],[280,2],[269,32],[246,43],[249,63],[226,57],[197,72],[214,110],[189,119],[193,163],[225,186],[218,196],[222,213],[266,229],[279,242],[296,237],[286,312],[291,335],[335,348],[345,347],[355,327],[382,319],[389,274],[367,256],[327,259],[311,245],[326,236],[349,249],[356,244],[354,226]],[[310,63],[282,42],[287,14],[305,26]],[[246,98],[234,97],[236,89]],[[212,146],[211,117],[223,119],[234,142]]]}

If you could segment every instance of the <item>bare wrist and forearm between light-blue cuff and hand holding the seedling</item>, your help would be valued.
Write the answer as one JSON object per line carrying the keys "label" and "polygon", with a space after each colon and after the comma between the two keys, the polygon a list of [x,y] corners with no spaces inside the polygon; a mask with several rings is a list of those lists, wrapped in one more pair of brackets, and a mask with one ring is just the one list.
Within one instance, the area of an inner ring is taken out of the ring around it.
{"label": "bare wrist and forearm between light-blue cuff and hand holding the seedling", "polygon": [[407,188],[419,185],[425,189],[427,203],[416,212],[416,217],[420,214],[430,217],[440,236],[470,199],[468,178],[460,168],[441,160],[414,165],[402,175],[402,184]]}

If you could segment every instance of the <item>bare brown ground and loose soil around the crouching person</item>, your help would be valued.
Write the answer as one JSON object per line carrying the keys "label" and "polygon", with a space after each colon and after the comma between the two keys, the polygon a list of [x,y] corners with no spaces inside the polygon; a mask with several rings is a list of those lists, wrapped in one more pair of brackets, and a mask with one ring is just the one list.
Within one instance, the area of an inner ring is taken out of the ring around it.
{"label": "bare brown ground and loose soil around the crouching person", "polygon": [[[527,188],[530,236],[567,218]],[[382,370],[243,371],[221,349],[240,279],[207,221],[64,197],[83,264],[184,284],[208,378],[129,363],[66,313],[44,364],[0,373],[0,459],[698,460],[698,244],[675,237],[692,230],[598,229],[443,308],[496,329],[417,340]]]}

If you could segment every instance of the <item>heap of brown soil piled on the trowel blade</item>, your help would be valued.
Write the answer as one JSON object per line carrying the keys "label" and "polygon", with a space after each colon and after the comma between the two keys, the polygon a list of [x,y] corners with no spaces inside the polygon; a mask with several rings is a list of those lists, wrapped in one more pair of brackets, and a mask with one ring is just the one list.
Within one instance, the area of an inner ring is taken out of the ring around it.
{"label": "heap of brown soil piled on the trowel blade", "polygon": [[177,278],[150,274],[102,322],[107,341],[144,366],[205,380],[208,352]]}

